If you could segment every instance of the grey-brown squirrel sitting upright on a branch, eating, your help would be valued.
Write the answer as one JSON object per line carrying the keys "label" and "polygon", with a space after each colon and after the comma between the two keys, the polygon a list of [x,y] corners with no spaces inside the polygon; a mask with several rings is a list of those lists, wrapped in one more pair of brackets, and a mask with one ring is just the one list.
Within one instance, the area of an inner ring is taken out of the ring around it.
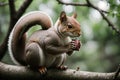
{"label": "grey-brown squirrel sitting upright on a branch, eating", "polygon": [[[40,73],[45,73],[49,67],[67,69],[63,66],[66,54],[71,55],[81,46],[79,40],[71,39],[81,35],[76,17],[76,13],[67,16],[62,11],[53,26],[51,17],[43,11],[32,11],[22,16],[12,29],[8,40],[12,61],[38,69]],[[27,38],[26,32],[36,24],[41,25],[42,30],[35,31]]]}

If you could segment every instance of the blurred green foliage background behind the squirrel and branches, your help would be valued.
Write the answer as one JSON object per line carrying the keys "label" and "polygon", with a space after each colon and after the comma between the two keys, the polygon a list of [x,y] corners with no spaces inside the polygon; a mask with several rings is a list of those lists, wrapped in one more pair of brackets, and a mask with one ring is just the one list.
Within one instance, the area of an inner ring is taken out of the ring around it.
{"label": "blurred green foliage background behind the squirrel and branches", "polygon": [[[0,2],[7,2],[1,0]],[[20,7],[24,0],[15,0],[16,9]],[[72,0],[67,0],[72,2]],[[78,0],[74,0],[76,2]],[[99,4],[100,1],[107,4],[107,17],[120,29],[120,1],[119,0],[91,0],[93,4]],[[84,3],[85,0],[78,2]],[[104,5],[102,5],[104,7]],[[101,7],[102,7],[101,6]],[[27,12],[42,10],[47,12],[53,22],[57,20],[61,11],[65,10],[68,15],[77,12],[77,20],[80,22],[82,36],[80,40],[82,47],[79,52],[75,52],[72,56],[68,56],[65,63],[70,68],[80,70],[110,72],[115,71],[120,64],[120,37],[116,34],[108,24],[102,19],[101,15],[89,7],[65,6],[58,4],[56,0],[33,0],[28,7]],[[9,26],[9,6],[0,6],[0,43],[5,38]],[[37,29],[38,29],[37,25]],[[29,31],[29,34],[34,29]],[[6,55],[3,59],[5,63],[11,63],[10,58]]]}

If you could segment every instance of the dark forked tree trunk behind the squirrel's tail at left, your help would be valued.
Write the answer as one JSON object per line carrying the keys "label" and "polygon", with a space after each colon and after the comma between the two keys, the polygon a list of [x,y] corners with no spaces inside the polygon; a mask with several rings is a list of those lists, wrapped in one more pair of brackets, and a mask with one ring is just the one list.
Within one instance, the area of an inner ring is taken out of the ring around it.
{"label": "dark forked tree trunk behind the squirrel's tail at left", "polygon": [[14,4],[15,1],[9,0],[10,25],[9,25],[7,35],[5,39],[3,40],[3,43],[0,45],[0,60],[3,58],[3,56],[5,55],[5,52],[7,51],[8,37],[9,37],[11,30],[13,29],[17,20],[23,15],[23,13],[28,8],[28,6],[31,4],[32,1],[33,0],[25,0],[22,6],[19,8],[19,10],[16,12],[15,4]]}

